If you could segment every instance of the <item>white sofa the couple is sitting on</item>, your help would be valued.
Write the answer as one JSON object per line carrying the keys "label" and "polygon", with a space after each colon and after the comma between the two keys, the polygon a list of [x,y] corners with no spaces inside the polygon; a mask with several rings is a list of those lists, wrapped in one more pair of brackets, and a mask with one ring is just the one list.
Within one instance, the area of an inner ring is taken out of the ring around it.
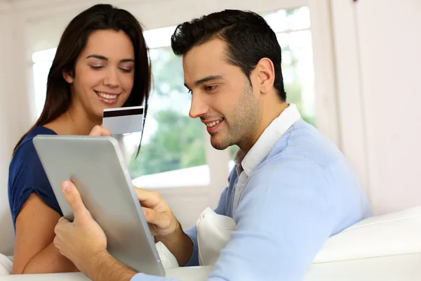
{"label": "white sofa the couple is sitting on", "polygon": [[[200,281],[206,280],[211,270],[212,266],[168,268],[166,274],[183,281]],[[81,273],[58,273],[3,275],[0,280],[79,281],[88,278]],[[421,206],[367,218],[330,237],[314,259],[305,281],[330,280],[420,281]]]}

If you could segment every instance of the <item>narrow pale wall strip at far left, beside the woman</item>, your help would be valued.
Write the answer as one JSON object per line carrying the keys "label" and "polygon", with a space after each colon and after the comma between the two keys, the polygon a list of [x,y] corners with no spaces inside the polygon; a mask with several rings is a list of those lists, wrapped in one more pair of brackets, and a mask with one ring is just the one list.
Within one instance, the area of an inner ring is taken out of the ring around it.
{"label": "narrow pale wall strip at far left, beside the woman", "polygon": [[[8,207],[8,164],[18,138],[29,126],[24,39],[19,17],[0,3],[0,253],[12,254],[13,225]],[[6,243],[6,242],[8,243]]]}

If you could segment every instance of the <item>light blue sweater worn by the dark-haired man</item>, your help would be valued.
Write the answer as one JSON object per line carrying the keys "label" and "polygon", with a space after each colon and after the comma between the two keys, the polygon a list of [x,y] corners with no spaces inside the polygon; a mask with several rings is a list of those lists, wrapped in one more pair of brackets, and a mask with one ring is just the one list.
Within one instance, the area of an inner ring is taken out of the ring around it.
{"label": "light blue sweater worn by the dark-haired man", "polygon": [[[232,214],[236,169],[215,212],[236,231],[208,281],[302,280],[328,237],[368,216],[359,179],[340,150],[302,119],[283,134],[248,177]],[[198,266],[197,230],[187,230]],[[131,281],[170,281],[139,273]]]}

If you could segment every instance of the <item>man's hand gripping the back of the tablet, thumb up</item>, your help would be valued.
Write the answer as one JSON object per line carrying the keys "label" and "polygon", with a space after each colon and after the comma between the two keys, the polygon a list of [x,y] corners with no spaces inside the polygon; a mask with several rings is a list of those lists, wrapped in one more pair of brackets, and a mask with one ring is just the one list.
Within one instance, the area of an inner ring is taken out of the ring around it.
{"label": "man's hand gripping the back of the tablet, thumb up", "polygon": [[54,229],[54,245],[79,270],[89,273],[93,258],[107,252],[107,237],[86,209],[74,184],[65,181],[62,191],[73,210],[74,221],[60,218]]}

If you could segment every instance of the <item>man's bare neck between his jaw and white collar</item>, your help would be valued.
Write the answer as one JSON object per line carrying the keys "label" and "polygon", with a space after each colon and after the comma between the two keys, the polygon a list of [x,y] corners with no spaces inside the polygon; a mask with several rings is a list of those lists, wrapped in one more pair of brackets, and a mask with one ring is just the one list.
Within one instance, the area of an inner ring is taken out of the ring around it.
{"label": "man's bare neck between his jaw and white collar", "polygon": [[244,140],[242,143],[239,143],[239,148],[244,152],[248,153],[251,148],[253,148],[253,145],[258,142],[260,136],[262,136],[262,133],[265,131],[265,129],[276,119],[281,115],[283,110],[288,107],[288,103],[283,102],[279,103],[276,102],[268,102],[265,103],[264,101],[261,104],[261,112],[260,115],[260,122],[258,124],[258,129],[256,130],[255,134],[250,140]]}

